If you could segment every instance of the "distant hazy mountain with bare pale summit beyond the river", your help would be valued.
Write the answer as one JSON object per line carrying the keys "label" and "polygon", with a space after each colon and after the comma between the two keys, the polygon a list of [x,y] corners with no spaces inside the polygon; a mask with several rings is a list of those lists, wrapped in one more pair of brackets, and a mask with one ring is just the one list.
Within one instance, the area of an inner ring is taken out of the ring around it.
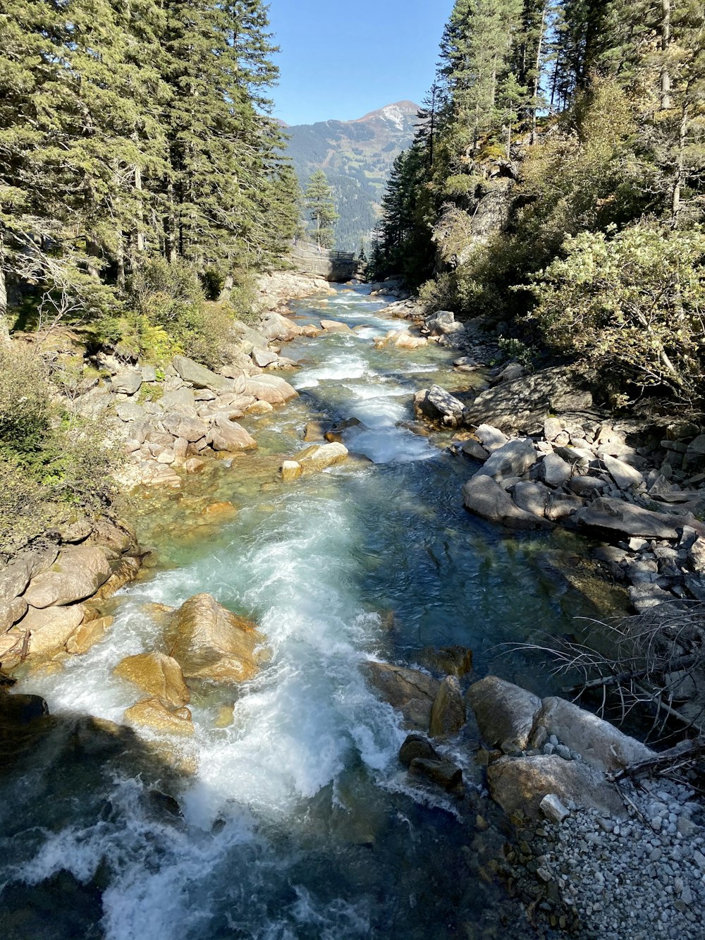
{"label": "distant hazy mountain with bare pale summit beyond the river", "polygon": [[322,169],[335,189],[336,247],[341,251],[356,251],[375,226],[392,164],[414,138],[417,111],[414,102],[396,102],[357,120],[286,128],[302,188],[314,170]]}

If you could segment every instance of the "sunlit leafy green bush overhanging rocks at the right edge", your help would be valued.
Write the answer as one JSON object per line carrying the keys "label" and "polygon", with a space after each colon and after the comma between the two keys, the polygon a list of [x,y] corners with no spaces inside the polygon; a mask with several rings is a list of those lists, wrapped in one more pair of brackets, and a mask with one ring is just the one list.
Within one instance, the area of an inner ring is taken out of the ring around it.
{"label": "sunlit leafy green bush overhanging rocks at the right edge", "polygon": [[531,315],[557,352],[682,398],[705,368],[705,234],[639,225],[583,232],[534,279]]}

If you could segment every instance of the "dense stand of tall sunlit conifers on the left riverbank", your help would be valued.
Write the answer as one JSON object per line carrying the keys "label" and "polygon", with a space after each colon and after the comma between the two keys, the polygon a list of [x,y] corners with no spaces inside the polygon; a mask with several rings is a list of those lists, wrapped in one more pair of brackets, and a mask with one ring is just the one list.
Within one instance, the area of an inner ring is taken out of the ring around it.
{"label": "dense stand of tall sunlit conifers on the left riverbank", "polygon": [[154,259],[217,295],[285,249],[259,0],[8,0],[0,30],[1,314],[104,324]]}

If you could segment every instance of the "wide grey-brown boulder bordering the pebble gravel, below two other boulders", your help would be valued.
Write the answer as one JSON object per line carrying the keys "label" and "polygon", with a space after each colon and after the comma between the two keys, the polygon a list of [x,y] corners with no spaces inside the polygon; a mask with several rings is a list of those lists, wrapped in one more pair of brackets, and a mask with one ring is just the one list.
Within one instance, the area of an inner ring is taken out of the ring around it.
{"label": "wide grey-brown boulder bordering the pebble gravel, below two other boulders", "polygon": [[555,754],[531,757],[502,757],[487,769],[490,795],[509,815],[523,813],[541,820],[541,803],[554,794],[561,803],[626,816],[619,793],[604,776],[580,760],[563,760]]}

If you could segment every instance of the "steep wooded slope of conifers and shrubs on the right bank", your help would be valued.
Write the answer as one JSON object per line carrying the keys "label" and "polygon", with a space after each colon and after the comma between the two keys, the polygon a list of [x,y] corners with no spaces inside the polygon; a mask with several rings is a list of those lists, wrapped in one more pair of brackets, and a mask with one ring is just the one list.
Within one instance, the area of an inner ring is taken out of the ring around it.
{"label": "steep wooded slope of conifers and shrubs on the right bank", "polygon": [[693,0],[457,0],[376,274],[587,358],[623,400],[701,396],[703,16]]}

